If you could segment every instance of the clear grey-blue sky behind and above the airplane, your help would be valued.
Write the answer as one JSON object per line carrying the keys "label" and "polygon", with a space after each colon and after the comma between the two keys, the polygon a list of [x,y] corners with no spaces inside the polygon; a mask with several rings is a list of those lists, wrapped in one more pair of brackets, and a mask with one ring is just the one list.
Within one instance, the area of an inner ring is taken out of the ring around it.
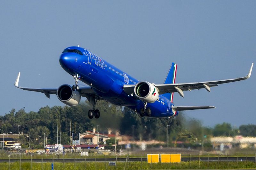
{"label": "clear grey-blue sky behind and above the airplane", "polygon": [[[14,87],[74,84],[59,64],[64,48],[89,49],[131,76],[163,83],[172,62],[176,83],[243,77],[256,57],[256,1],[3,1],[0,10],[1,107],[38,111],[63,106],[55,95]],[[255,69],[250,79],[211,92],[174,94],[177,106],[206,126],[256,124]],[[85,99],[83,99],[85,100]],[[87,113],[84,113],[87,114]]]}

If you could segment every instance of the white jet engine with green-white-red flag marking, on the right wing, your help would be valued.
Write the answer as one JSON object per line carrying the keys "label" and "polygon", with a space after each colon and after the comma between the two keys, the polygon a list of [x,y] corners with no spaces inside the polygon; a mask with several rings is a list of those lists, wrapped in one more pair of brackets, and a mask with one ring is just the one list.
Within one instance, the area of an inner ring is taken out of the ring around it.
{"label": "white jet engine with green-white-red flag marking, on the right wing", "polygon": [[134,88],[134,93],[140,100],[149,103],[154,103],[159,96],[157,88],[147,81],[137,83]]}

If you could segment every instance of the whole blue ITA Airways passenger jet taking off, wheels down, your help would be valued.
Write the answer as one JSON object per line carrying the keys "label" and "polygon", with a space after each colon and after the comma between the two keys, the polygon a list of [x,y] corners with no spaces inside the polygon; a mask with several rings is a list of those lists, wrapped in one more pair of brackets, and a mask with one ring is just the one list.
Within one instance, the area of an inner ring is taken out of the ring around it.
{"label": "whole blue ITA Airways passenger jet taking off, wheels down", "polygon": [[[88,111],[90,119],[99,118],[100,111],[95,109],[98,100],[106,100],[118,106],[125,106],[139,113],[141,117],[154,118],[171,117],[178,115],[179,111],[215,108],[214,106],[174,106],[173,93],[178,92],[184,97],[183,91],[205,88],[210,92],[210,87],[219,84],[245,80],[249,74],[242,78],[204,81],[195,83],[175,83],[177,64],[172,63],[164,80],[164,84],[154,84],[147,81],[139,81],[126,72],[116,68],[101,57],[81,47],[68,47],[60,55],[60,65],[75,80],[75,85],[60,85],[59,88],[27,88],[19,86],[20,72],[15,81],[15,86],[34,92],[42,92],[50,98],[50,94],[56,94],[58,99],[68,106],[76,106],[81,97],[86,97],[92,104]],[[79,87],[78,80],[89,85]]]}

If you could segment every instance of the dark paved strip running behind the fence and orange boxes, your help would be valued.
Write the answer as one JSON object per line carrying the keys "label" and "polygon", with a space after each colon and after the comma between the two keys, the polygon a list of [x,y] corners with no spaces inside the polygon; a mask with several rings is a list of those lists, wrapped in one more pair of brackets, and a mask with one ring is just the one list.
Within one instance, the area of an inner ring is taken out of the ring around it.
{"label": "dark paved strip running behind the fence and orange boxes", "polygon": [[[129,158],[130,161],[141,161],[141,158]],[[198,157],[191,157],[191,161],[197,161]],[[20,161],[20,159],[10,159],[10,162]],[[30,162],[31,159],[21,159],[21,162]],[[32,159],[33,162],[42,162],[42,159]],[[54,162],[84,162],[84,159],[54,159]],[[87,162],[115,162],[116,158],[86,158]],[[118,162],[126,161],[126,158],[117,158]],[[147,158],[142,158],[142,161],[147,161]],[[181,158],[181,161],[189,161],[189,157]],[[200,161],[208,161],[208,157],[201,157]],[[209,157],[209,161],[255,161],[255,157]],[[0,162],[9,162],[9,159],[0,159]],[[43,162],[52,162],[52,159],[43,159]]]}

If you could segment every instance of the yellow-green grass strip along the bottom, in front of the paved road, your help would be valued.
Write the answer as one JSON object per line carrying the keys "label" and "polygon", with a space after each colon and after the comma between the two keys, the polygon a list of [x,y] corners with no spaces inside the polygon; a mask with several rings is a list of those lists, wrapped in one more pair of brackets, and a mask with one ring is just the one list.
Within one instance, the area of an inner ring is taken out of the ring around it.
{"label": "yellow-green grass strip along the bottom, in front of the paved road", "polygon": [[[108,166],[108,162],[76,162],[76,163],[54,163],[55,170],[95,170],[95,169],[232,169],[232,168],[256,168],[255,162],[198,162],[191,161],[180,163],[155,163],[148,164],[147,162],[118,162],[117,166]],[[15,163],[0,163],[1,170],[18,170],[20,162]],[[21,169],[31,169],[31,163],[21,163]],[[32,163],[33,170],[51,170],[52,163]]]}

